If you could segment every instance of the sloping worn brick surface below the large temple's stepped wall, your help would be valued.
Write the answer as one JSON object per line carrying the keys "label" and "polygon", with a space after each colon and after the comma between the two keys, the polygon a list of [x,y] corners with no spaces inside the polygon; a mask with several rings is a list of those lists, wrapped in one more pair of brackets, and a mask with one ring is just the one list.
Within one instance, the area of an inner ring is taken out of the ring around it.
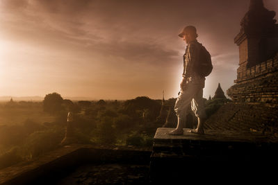
{"label": "sloping worn brick surface below the large temple's stepped wall", "polygon": [[206,129],[255,132],[277,137],[278,105],[227,103],[205,123]]}

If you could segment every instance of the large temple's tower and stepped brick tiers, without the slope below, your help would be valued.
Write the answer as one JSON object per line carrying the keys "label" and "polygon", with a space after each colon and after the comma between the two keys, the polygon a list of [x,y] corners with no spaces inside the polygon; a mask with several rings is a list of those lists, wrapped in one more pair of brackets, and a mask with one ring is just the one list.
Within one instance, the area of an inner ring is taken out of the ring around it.
{"label": "large temple's tower and stepped brick tiers, without the slope below", "polygon": [[236,102],[278,103],[278,24],[262,0],[252,0],[234,38],[239,47],[237,79],[227,90]]}

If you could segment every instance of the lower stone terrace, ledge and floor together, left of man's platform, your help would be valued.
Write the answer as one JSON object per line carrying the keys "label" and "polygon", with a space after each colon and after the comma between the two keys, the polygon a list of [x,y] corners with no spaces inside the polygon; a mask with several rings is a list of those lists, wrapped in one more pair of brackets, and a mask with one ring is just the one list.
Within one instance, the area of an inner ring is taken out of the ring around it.
{"label": "lower stone terrace, ledge and floor together, left of man's platform", "polygon": [[0,184],[148,184],[147,148],[71,145],[0,170]]}

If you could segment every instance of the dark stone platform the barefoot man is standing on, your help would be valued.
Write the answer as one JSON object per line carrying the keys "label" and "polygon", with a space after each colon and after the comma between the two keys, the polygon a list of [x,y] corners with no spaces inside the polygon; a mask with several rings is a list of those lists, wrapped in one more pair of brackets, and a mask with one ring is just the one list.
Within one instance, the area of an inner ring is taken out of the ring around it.
{"label": "dark stone platform the barefoot man is standing on", "polygon": [[[153,181],[165,182],[184,175],[253,175],[278,164],[278,140],[259,132],[205,130],[168,135],[173,128],[156,130],[150,159]],[[236,168],[236,170],[233,170]]]}

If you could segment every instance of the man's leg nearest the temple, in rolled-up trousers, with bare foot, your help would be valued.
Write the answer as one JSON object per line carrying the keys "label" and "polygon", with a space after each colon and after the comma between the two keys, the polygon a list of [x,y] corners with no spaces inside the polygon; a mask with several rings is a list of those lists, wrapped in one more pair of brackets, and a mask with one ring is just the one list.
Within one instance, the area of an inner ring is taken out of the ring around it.
{"label": "man's leg nearest the temple, in rolled-up trousers, with bare foot", "polygon": [[194,96],[191,102],[191,109],[195,112],[195,115],[198,118],[197,128],[191,132],[204,134],[204,121],[206,118],[206,112],[204,112],[203,89],[200,89]]}

